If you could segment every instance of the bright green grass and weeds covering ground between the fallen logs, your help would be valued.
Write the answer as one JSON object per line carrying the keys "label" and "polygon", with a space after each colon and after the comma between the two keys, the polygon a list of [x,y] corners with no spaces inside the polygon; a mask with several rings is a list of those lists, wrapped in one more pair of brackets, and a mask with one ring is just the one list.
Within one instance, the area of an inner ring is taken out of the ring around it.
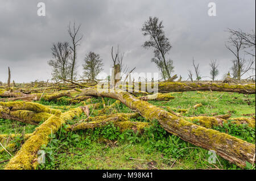
{"label": "bright green grass and weeds covering ground between the fallen logs", "polygon": [[[230,92],[174,92],[170,101],[149,101],[156,106],[168,106],[175,109],[187,109],[183,116],[213,116],[232,114],[232,117],[250,117],[244,114],[255,113],[255,95],[244,95]],[[102,102],[101,98],[93,98],[93,103]],[[110,105],[114,99],[104,98]],[[39,103],[68,110],[82,104],[67,105],[65,100]],[[203,104],[197,109],[195,104]],[[61,107],[60,107],[61,106]],[[102,107],[98,108],[100,110]],[[90,110],[91,116],[97,116],[97,110]],[[129,108],[120,104],[108,113],[131,112]],[[86,116],[82,114],[67,124],[76,123]],[[138,117],[136,121],[146,121]],[[0,119],[0,134],[32,133],[37,126],[19,123],[13,120]],[[65,125],[64,125],[65,127]],[[255,128],[245,125],[224,124],[214,129],[231,134],[255,144]],[[23,140],[15,138],[13,143],[19,148]],[[3,143],[5,144],[5,143]],[[209,163],[208,150],[184,142],[179,137],[164,131],[154,122],[143,133],[131,130],[121,132],[113,124],[105,127],[88,129],[86,131],[65,132],[61,129],[51,135],[51,142],[43,145],[46,151],[46,163],[38,169],[239,169],[225,159],[218,157],[216,163]],[[9,149],[13,156],[17,149]],[[11,158],[7,151],[0,153],[0,169],[3,169]],[[247,163],[246,169],[255,168]]]}

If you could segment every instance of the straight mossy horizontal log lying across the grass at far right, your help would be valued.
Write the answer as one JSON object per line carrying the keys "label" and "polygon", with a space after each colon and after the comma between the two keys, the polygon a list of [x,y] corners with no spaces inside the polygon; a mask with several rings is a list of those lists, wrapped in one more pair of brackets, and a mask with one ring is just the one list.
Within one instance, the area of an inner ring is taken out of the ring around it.
{"label": "straight mossy horizontal log lying across the grass at far right", "polygon": [[159,92],[183,92],[183,91],[224,91],[243,94],[255,94],[254,85],[238,85],[228,83],[183,83],[183,82],[159,82]]}

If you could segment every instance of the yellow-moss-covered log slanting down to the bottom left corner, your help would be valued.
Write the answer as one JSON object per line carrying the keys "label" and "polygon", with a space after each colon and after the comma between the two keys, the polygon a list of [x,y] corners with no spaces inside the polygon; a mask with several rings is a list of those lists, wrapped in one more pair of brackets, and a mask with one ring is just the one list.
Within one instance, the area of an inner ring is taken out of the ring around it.
{"label": "yellow-moss-covered log slanting down to the bottom left corner", "polygon": [[37,154],[42,145],[47,145],[49,135],[56,133],[62,124],[67,120],[80,116],[82,109],[80,107],[69,110],[61,115],[52,115],[48,120],[44,121],[22,145],[16,155],[10,159],[5,169],[35,169],[38,165]]}

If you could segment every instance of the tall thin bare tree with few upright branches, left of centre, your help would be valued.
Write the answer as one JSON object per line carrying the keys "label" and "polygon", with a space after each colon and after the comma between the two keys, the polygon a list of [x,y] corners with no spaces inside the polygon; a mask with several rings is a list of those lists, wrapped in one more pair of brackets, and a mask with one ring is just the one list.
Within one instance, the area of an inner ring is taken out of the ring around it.
{"label": "tall thin bare tree with few upright branches, left of centre", "polygon": [[71,37],[72,40],[72,46],[70,49],[72,50],[72,62],[71,62],[71,81],[73,81],[76,77],[76,57],[77,57],[77,52],[76,48],[79,46],[79,42],[82,40],[82,36],[77,38],[77,33],[79,32],[81,27],[81,24],[76,27],[76,22],[73,23],[73,26],[71,27],[71,23],[69,23],[68,26],[68,33],[69,36]]}

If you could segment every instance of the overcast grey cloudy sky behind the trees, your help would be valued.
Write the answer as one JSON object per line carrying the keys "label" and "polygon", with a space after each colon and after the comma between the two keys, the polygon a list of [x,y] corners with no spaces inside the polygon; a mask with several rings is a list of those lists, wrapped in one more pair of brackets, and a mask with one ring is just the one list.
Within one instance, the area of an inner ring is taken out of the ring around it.
{"label": "overcast grey cloudy sky behind the trees", "polygon": [[[38,3],[46,5],[46,16],[38,16]],[[216,3],[217,16],[208,16],[208,3]],[[47,61],[51,46],[70,41],[67,26],[76,20],[83,35],[78,48],[78,72],[82,74],[85,54],[100,54],[109,74],[110,50],[119,45],[124,61],[138,73],[158,72],[150,62],[152,50],[142,48],[142,24],[149,16],[163,20],[172,49],[175,73],[187,79],[192,57],[209,76],[210,60],[218,60],[221,78],[230,68],[232,54],[225,48],[226,28],[255,31],[255,0],[86,0],[13,1],[0,0],[0,81],[30,82],[51,78]]]}

